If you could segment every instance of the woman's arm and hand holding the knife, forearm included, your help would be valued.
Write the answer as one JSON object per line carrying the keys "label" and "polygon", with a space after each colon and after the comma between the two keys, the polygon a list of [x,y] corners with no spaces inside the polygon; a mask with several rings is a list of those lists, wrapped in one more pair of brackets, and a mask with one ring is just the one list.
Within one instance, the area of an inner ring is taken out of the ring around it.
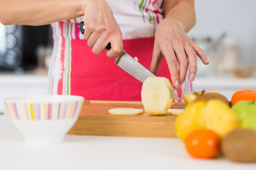
{"label": "woman's arm and hand holding the knife, forearm included", "polygon": [[122,32],[105,0],[22,0],[22,5],[17,8],[16,0],[0,0],[0,22],[41,26],[84,16],[84,38],[93,53],[99,55],[109,42],[108,57],[117,57],[122,51]]}

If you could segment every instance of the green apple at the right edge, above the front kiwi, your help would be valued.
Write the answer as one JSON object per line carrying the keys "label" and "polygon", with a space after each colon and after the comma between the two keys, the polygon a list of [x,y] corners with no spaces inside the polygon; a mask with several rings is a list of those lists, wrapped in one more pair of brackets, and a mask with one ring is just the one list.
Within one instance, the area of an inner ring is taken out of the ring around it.
{"label": "green apple at the right edge, above the front kiwi", "polygon": [[238,118],[243,120],[245,117],[256,114],[256,102],[254,101],[240,101],[235,103],[232,110],[238,115]]}

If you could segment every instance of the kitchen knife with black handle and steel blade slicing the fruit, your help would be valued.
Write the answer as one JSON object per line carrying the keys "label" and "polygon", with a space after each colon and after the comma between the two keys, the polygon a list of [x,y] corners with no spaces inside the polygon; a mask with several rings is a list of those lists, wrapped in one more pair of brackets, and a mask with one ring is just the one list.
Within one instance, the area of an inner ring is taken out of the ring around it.
{"label": "kitchen knife with black handle and steel blade slicing the fruit", "polygon": [[[82,34],[85,33],[85,25],[84,22],[80,22],[80,31]],[[111,43],[109,42],[106,47],[107,50],[111,49]],[[142,83],[145,81],[148,77],[156,77],[153,73],[151,73],[146,67],[144,67],[142,64],[137,62],[133,57],[127,54],[124,50],[117,55],[114,59],[114,64],[117,64],[119,67],[121,67],[125,72],[130,74],[135,79],[141,81]],[[171,98],[181,100],[172,89],[171,91]]]}

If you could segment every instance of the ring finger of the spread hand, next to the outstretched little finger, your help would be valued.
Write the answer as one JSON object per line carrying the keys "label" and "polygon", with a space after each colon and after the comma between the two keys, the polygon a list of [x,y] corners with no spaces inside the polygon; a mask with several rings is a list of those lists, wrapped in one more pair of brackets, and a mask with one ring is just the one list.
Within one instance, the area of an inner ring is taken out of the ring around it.
{"label": "ring finger of the spread hand, next to the outstretched little finger", "polygon": [[196,78],[196,71],[197,71],[196,52],[188,44],[185,45],[185,51],[186,51],[186,55],[188,57],[189,66],[190,66],[188,79],[190,79],[190,81],[194,81]]}

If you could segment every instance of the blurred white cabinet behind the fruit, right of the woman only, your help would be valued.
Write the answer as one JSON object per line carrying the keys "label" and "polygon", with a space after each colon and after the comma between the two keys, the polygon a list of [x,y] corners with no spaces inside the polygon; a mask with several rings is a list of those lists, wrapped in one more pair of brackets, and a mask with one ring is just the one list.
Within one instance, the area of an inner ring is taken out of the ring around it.
{"label": "blurred white cabinet behind the fruit, right of the woman only", "polygon": [[220,94],[229,100],[235,93],[242,89],[252,89],[256,91],[256,79],[237,79],[233,77],[212,77],[196,78],[193,82],[193,91],[218,90]]}

